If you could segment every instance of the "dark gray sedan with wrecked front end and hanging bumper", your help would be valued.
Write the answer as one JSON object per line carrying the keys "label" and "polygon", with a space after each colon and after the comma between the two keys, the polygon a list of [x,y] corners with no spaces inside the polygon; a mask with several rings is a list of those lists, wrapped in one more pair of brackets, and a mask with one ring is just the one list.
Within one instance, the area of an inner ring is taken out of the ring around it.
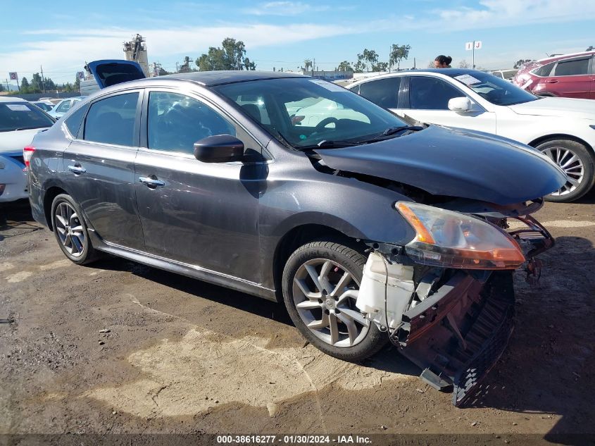
{"label": "dark gray sedan with wrecked front end and hanging bumper", "polygon": [[[512,330],[513,270],[553,243],[530,216],[565,182],[546,156],[411,126],[303,75],[127,81],[143,77],[136,63],[89,68],[112,86],[26,152],[33,216],[68,259],[107,252],[279,299],[340,359],[391,340],[435,388],[454,384],[456,404],[494,364]],[[351,114],[291,119],[313,99]],[[507,233],[508,218],[527,232]]]}

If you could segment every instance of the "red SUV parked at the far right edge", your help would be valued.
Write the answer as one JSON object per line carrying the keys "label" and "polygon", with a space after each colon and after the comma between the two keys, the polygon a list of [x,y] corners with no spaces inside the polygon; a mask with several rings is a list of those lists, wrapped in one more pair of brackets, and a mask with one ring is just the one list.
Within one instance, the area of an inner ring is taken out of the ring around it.
{"label": "red SUV parked at the far right edge", "polygon": [[595,99],[594,58],[586,51],[525,63],[513,82],[537,96]]}

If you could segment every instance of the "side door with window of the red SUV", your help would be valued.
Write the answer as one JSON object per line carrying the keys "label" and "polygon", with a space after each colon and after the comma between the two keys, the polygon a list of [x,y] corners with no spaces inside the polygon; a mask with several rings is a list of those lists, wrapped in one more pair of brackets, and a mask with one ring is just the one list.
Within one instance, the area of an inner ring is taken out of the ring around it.
{"label": "side door with window of the red SUV", "polygon": [[593,81],[592,57],[558,61],[551,75],[544,80],[544,91],[559,97],[588,99]]}

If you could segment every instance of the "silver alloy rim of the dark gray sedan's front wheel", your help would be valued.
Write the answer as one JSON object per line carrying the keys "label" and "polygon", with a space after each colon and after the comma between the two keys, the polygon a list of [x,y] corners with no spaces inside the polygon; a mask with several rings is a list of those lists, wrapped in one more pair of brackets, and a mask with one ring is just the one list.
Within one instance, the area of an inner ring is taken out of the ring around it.
{"label": "silver alloy rim of the dark gray sedan's front wheel", "polygon": [[313,335],[334,347],[353,347],[370,329],[356,307],[359,282],[344,266],[329,259],[302,264],[293,282],[298,314]]}

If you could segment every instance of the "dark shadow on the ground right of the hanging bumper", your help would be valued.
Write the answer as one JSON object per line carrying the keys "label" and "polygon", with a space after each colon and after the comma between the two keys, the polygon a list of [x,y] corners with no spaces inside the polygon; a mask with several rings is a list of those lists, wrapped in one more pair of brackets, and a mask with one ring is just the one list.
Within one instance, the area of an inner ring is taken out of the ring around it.
{"label": "dark shadow on the ground right of the hanging bumper", "polygon": [[579,444],[595,434],[595,249],[582,237],[558,237],[541,258],[539,287],[515,278],[515,331],[466,407],[542,414],[557,419],[545,440]]}

